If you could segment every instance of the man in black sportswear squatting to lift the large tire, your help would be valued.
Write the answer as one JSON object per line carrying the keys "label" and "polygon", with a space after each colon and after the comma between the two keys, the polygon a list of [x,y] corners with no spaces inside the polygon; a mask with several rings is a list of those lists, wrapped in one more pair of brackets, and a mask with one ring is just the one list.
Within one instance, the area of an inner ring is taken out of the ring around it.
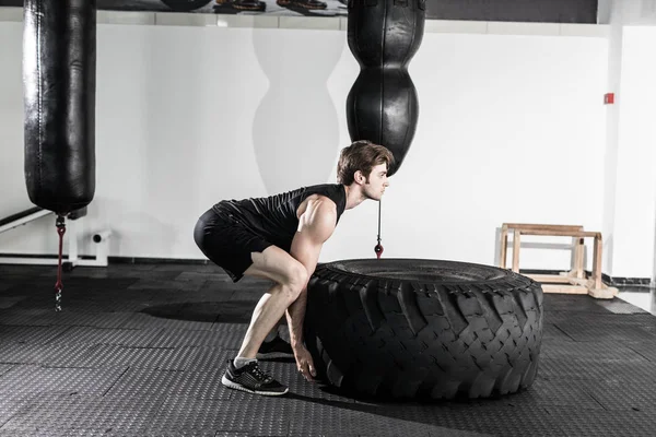
{"label": "man in black sportswear squatting to lift the large tire", "polygon": [[307,282],[341,214],[366,199],[380,200],[393,164],[394,156],[386,147],[356,141],[340,153],[339,184],[304,187],[268,198],[221,201],[201,215],[194,238],[211,261],[234,282],[250,275],[274,283],[258,302],[242,347],[229,362],[223,385],[266,395],[288,392],[257,362],[258,356],[274,349],[273,342],[265,340],[276,336],[284,315],[291,339],[288,349],[298,371],[308,381],[314,380],[312,355],[303,344]]}

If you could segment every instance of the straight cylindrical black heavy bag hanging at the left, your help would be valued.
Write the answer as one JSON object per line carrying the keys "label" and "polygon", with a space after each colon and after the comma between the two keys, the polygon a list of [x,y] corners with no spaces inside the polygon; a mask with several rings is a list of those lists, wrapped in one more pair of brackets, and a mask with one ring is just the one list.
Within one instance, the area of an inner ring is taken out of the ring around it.
{"label": "straight cylindrical black heavy bag hanging at the left", "polygon": [[95,191],[96,0],[25,0],[24,19],[27,194],[66,215]]}

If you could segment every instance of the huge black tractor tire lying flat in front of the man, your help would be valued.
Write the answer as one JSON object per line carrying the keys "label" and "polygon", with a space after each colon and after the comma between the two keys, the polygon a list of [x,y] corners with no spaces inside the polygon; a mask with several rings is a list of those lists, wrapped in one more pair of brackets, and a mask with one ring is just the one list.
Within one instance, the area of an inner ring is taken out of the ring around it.
{"label": "huge black tractor tire lying flat in front of the man", "polygon": [[488,398],[534,382],[542,288],[509,270],[418,259],[318,265],[305,343],[319,377],[380,398]]}

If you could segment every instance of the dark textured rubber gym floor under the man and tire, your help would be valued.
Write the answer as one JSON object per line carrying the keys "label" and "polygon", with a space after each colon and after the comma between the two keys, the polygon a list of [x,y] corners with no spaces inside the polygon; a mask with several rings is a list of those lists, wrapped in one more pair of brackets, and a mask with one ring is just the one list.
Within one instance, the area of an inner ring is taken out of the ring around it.
{"label": "dark textured rubber gym floor under the man and tire", "polygon": [[[65,273],[0,265],[0,436],[653,436],[656,318],[619,298],[544,295],[538,377],[495,399],[347,395],[262,362],[290,386],[221,385],[268,283],[212,264]],[[284,332],[284,331],[283,331]]]}

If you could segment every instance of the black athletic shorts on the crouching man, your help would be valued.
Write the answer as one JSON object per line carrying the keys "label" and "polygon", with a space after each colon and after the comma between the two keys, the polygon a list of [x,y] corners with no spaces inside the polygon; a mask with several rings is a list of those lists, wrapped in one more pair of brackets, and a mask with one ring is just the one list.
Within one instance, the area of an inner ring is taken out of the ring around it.
{"label": "black athletic shorts on the crouching man", "polygon": [[244,227],[232,214],[220,215],[212,209],[198,218],[194,239],[204,256],[225,270],[233,282],[239,281],[253,264],[251,252],[262,252],[273,245]]}

